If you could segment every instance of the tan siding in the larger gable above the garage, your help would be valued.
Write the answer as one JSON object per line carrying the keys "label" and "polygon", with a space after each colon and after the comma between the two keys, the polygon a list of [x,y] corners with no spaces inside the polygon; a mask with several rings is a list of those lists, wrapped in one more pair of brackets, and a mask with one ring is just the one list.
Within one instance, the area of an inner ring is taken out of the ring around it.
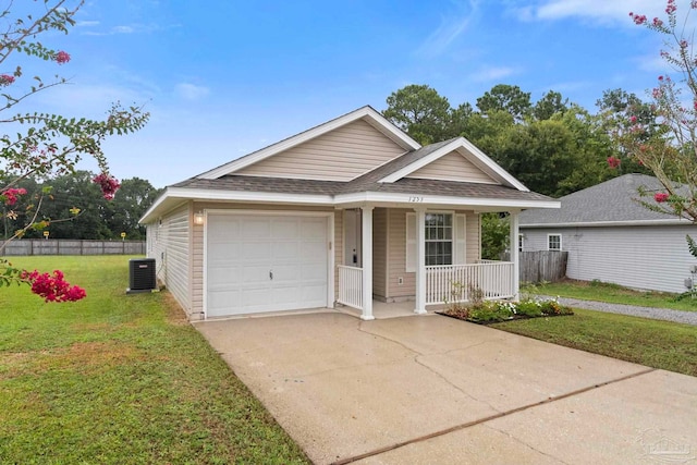
{"label": "tan siding in the larger gable above the garage", "polygon": [[235,174],[350,181],[404,154],[363,120],[246,167]]}

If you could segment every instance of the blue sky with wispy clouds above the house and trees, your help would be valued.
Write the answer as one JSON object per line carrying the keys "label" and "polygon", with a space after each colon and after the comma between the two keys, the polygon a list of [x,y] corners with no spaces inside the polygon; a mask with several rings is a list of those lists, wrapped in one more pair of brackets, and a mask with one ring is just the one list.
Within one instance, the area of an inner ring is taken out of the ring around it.
{"label": "blue sky with wispy clouds above the house and trees", "polygon": [[[678,0],[678,5],[685,1]],[[65,115],[145,105],[139,133],[105,145],[112,173],[155,186],[182,181],[408,84],[453,107],[497,84],[537,100],[562,93],[595,111],[602,91],[645,97],[660,38],[628,12],[651,0],[88,0],[68,36],[42,40],[72,61],[71,79],[37,96]],[[51,70],[53,71],[53,70]],[[86,162],[85,169],[93,167]]]}

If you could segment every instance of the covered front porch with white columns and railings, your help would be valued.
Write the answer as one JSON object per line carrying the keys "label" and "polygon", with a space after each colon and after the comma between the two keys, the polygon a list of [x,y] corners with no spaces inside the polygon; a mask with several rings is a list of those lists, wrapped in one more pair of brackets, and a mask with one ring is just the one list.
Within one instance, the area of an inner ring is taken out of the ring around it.
{"label": "covered front porch with white columns and railings", "polygon": [[509,211],[511,261],[480,259],[479,217],[474,211],[384,210],[344,210],[337,304],[371,320],[407,309],[426,314],[455,302],[517,298],[517,210]]}

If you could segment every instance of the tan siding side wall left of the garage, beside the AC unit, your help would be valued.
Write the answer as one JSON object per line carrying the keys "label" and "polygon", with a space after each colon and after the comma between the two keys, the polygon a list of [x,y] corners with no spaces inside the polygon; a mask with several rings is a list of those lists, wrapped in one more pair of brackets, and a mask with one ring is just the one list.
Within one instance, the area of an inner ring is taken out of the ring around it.
{"label": "tan siding side wall left of the garage, beside the AC unit", "polygon": [[176,302],[191,315],[189,295],[189,208],[183,205],[158,222],[155,252],[158,278]]}

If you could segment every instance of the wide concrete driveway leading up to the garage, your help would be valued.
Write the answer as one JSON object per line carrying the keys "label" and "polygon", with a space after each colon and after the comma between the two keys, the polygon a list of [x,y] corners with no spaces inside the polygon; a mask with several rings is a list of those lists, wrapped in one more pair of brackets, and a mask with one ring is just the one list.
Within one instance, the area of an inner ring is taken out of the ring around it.
{"label": "wide concrete driveway leading up to the garage", "polygon": [[317,464],[697,463],[697,378],[437,315],[196,328]]}

